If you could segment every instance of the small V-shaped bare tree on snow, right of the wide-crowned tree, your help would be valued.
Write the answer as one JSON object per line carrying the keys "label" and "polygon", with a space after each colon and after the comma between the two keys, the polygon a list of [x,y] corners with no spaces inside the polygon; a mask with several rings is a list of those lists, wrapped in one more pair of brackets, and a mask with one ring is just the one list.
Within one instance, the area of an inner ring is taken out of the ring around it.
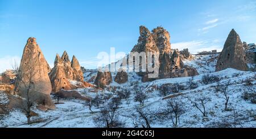
{"label": "small V-shaped bare tree on snow, right of the wide-crowned tree", "polygon": [[195,99],[195,101],[192,101],[190,99],[190,101],[193,104],[193,106],[196,107],[203,114],[203,116],[207,116],[207,112],[205,110],[205,104],[210,101],[210,98],[201,97],[201,98]]}

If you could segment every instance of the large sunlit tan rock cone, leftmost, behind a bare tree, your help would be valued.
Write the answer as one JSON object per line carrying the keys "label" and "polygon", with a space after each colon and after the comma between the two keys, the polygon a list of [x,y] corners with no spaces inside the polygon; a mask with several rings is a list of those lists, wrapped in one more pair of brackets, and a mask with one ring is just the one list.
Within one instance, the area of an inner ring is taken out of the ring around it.
{"label": "large sunlit tan rock cone, leftmost, behind a bare tree", "polygon": [[18,79],[15,85],[16,92],[26,98],[27,86],[32,82],[30,99],[38,104],[45,105],[47,108],[54,109],[55,105],[50,97],[52,86],[48,76],[49,71],[51,71],[51,68],[49,68],[49,64],[36,43],[36,38],[28,38],[20,62]]}

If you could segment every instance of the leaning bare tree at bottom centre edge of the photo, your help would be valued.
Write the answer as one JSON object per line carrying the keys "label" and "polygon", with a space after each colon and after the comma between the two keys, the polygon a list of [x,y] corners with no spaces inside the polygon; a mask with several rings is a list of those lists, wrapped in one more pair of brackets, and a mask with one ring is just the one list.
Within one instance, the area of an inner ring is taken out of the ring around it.
{"label": "leaning bare tree at bottom centre edge of the photo", "polygon": [[136,107],[136,112],[131,114],[133,117],[134,127],[151,128],[151,123],[155,121],[155,114],[149,108],[142,109],[141,107]]}

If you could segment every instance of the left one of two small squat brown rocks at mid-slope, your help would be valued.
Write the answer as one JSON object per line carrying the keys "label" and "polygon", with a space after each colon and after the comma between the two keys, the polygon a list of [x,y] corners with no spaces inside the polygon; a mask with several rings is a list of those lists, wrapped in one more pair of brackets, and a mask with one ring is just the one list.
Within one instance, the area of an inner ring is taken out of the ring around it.
{"label": "left one of two small squat brown rocks at mid-slope", "polygon": [[112,82],[112,75],[108,72],[98,71],[94,84],[98,86],[98,88],[105,88],[106,85],[109,85]]}

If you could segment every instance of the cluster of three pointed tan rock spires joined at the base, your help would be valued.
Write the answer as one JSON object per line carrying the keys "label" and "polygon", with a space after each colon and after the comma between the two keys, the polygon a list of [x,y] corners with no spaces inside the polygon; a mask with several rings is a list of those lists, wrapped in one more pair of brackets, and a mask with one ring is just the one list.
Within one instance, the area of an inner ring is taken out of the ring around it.
{"label": "cluster of three pointed tan rock spires joined at the base", "polygon": [[76,88],[93,87],[92,84],[84,81],[83,73],[80,68],[79,61],[75,56],[70,62],[68,54],[64,51],[62,57],[57,54],[54,67],[49,73],[52,84],[52,92],[63,90],[71,90]]}

